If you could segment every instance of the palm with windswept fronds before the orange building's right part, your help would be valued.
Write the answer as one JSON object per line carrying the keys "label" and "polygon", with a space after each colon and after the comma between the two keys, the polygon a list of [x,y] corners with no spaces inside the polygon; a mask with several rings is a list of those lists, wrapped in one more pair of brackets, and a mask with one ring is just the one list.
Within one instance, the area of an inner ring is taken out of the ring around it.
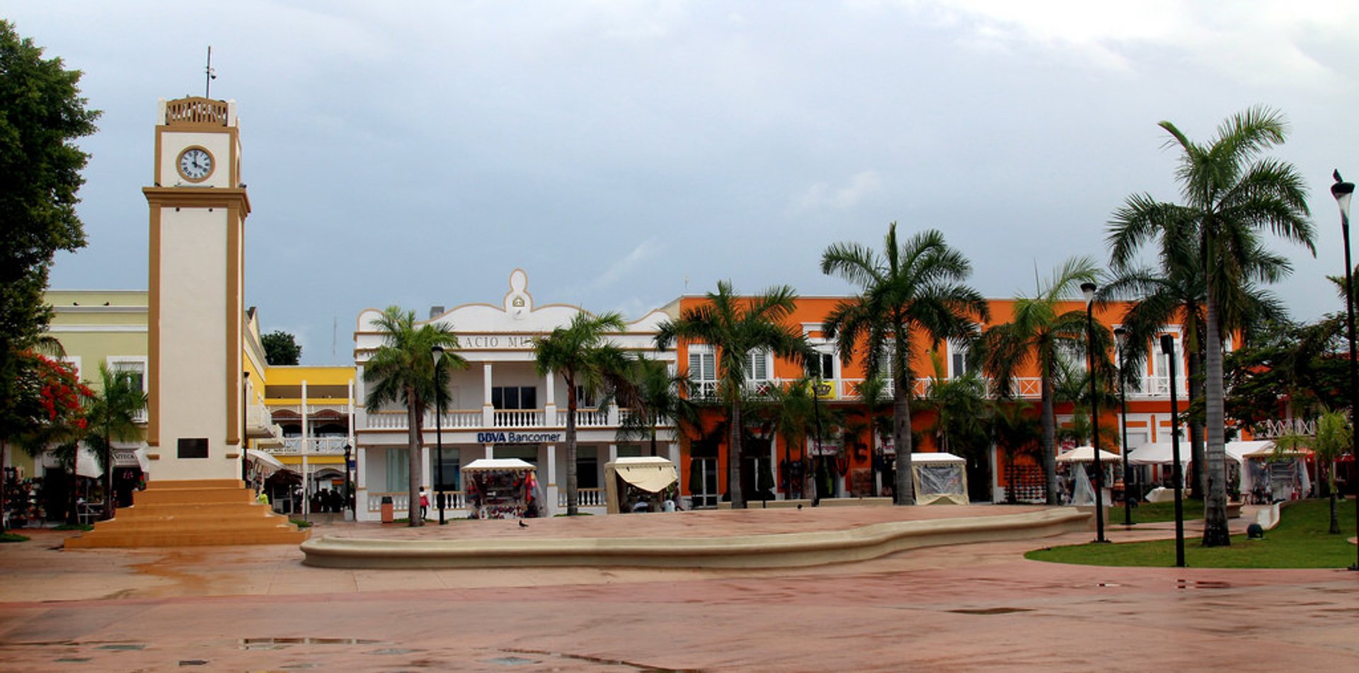
{"label": "palm with windswept fronds before the orange building's right part", "polygon": [[1015,299],[1010,322],[992,326],[984,337],[985,367],[996,378],[1002,397],[1010,397],[1011,381],[1019,367],[1038,367],[1038,421],[1042,428],[1040,449],[1048,504],[1057,504],[1057,415],[1053,397],[1057,359],[1061,352],[1070,353],[1083,347],[1086,336],[1083,309],[1065,313],[1057,313],[1057,309],[1079,284],[1093,283],[1097,276],[1094,260],[1067,260],[1046,286],[1038,286],[1033,296]]}

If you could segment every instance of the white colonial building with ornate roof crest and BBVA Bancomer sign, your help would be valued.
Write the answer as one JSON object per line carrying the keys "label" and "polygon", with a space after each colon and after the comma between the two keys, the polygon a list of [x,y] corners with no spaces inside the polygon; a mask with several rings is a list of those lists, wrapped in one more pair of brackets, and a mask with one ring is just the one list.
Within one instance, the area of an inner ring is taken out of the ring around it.
{"label": "white colonial building with ornate roof crest and BBVA Bancomer sign", "polygon": [[[520,458],[537,468],[544,487],[548,515],[565,511],[565,428],[567,390],[560,375],[540,375],[534,363],[534,343],[554,328],[565,326],[583,309],[568,305],[534,306],[529,277],[515,269],[510,290],[495,305],[470,303],[443,311],[431,309],[425,324],[447,325],[461,344],[458,355],[469,367],[448,374],[450,401],[440,419],[431,411],[423,421],[421,485],[431,492],[429,517],[436,518],[436,481],[442,473],[448,498],[446,517],[467,515],[463,502],[462,466],[477,458]],[[381,310],[359,314],[355,332],[355,366],[357,375],[357,491],[356,514],[360,521],[381,517],[383,498],[390,498],[397,517],[408,511],[409,469],[405,408],[391,405],[375,413],[364,409],[367,389],[364,364],[382,347],[386,334],[376,328]],[[626,324],[622,333],[609,339],[618,347],[646,353],[651,359],[675,363],[675,352],[655,349],[656,326],[671,318],[655,310]],[[598,407],[582,394],[576,412],[578,485],[583,511],[605,513],[602,498],[603,466],[617,457],[650,453],[646,442],[618,443],[618,427],[629,413],[614,405]],[[442,439],[440,439],[442,438]],[[439,446],[442,445],[442,451]],[[660,454],[680,461],[680,443],[674,428],[660,428]]]}

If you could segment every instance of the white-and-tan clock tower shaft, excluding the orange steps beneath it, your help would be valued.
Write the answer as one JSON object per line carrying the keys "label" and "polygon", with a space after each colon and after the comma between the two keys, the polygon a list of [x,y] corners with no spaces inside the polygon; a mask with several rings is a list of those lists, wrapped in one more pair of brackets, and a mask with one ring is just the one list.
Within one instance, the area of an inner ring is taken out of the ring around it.
{"label": "white-and-tan clock tower shaft, excluding the orange steps beneath it", "polygon": [[245,220],[234,101],[160,101],[151,208],[147,443],[154,480],[241,474]]}

